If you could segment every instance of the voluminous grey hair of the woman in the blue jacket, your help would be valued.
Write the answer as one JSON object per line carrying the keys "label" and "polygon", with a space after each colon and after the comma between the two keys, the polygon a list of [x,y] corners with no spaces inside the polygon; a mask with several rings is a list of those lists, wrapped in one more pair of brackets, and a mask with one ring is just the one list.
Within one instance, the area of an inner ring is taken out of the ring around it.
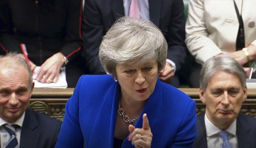
{"label": "voluminous grey hair of the woman in the blue jacket", "polygon": [[116,64],[140,65],[156,60],[158,74],[164,68],[167,42],[161,30],[142,18],[121,17],[100,44],[99,58],[105,71],[116,76]]}

